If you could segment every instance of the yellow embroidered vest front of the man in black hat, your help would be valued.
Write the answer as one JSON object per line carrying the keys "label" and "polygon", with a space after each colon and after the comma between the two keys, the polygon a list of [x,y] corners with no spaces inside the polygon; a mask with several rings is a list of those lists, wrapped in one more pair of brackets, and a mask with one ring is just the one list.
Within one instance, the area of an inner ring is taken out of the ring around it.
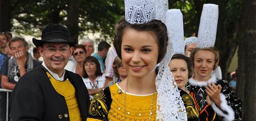
{"label": "yellow embroidered vest front of the man in black hat", "polygon": [[69,114],[69,120],[81,121],[81,114],[75,97],[74,86],[70,83],[68,79],[66,79],[65,81],[58,81],[54,79],[53,76],[48,72],[47,76],[50,79],[50,82],[52,83],[55,91],[57,91],[60,95],[65,97]]}

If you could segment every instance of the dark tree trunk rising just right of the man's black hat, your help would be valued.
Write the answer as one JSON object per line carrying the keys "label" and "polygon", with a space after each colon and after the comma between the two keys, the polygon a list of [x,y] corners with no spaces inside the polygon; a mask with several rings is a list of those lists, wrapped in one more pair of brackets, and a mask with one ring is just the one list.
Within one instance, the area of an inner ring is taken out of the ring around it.
{"label": "dark tree trunk rising just right of the man's black hat", "polygon": [[79,0],[68,0],[67,29],[70,32],[72,41],[78,39],[78,30],[79,30],[78,17],[79,17]]}

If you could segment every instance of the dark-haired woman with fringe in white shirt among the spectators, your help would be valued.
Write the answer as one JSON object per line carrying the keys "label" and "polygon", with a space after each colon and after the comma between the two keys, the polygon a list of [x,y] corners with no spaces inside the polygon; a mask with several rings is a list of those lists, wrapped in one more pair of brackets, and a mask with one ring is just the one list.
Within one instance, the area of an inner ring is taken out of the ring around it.
{"label": "dark-haired woman with fringe in white shirt among the spectators", "polygon": [[83,67],[82,78],[91,97],[104,88],[105,76],[101,73],[100,63],[94,56],[88,56]]}

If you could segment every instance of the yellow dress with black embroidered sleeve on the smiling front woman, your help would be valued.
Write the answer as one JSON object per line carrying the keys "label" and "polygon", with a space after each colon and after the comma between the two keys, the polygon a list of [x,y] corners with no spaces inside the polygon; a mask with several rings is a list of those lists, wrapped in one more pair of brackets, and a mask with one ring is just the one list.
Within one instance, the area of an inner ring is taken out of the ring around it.
{"label": "yellow dress with black embroidered sleeve on the smiling front woman", "polygon": [[[91,102],[87,121],[123,121],[124,91],[118,84],[97,93]],[[149,112],[153,100],[151,121],[156,120],[157,93],[149,95],[125,95],[125,121],[149,121]]]}

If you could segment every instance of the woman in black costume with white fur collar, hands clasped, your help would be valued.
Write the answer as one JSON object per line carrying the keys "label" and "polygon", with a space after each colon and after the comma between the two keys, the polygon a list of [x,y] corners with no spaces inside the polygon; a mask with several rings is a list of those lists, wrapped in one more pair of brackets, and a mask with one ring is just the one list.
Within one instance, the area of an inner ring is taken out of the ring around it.
{"label": "woman in black costume with white fur collar, hands clasped", "polygon": [[216,120],[242,120],[243,106],[239,97],[224,79],[217,79],[212,73],[219,63],[219,50],[215,47],[195,48],[190,59],[195,69],[194,77],[189,79],[187,89],[198,93],[204,100],[200,101],[201,109],[210,104],[216,112]]}

